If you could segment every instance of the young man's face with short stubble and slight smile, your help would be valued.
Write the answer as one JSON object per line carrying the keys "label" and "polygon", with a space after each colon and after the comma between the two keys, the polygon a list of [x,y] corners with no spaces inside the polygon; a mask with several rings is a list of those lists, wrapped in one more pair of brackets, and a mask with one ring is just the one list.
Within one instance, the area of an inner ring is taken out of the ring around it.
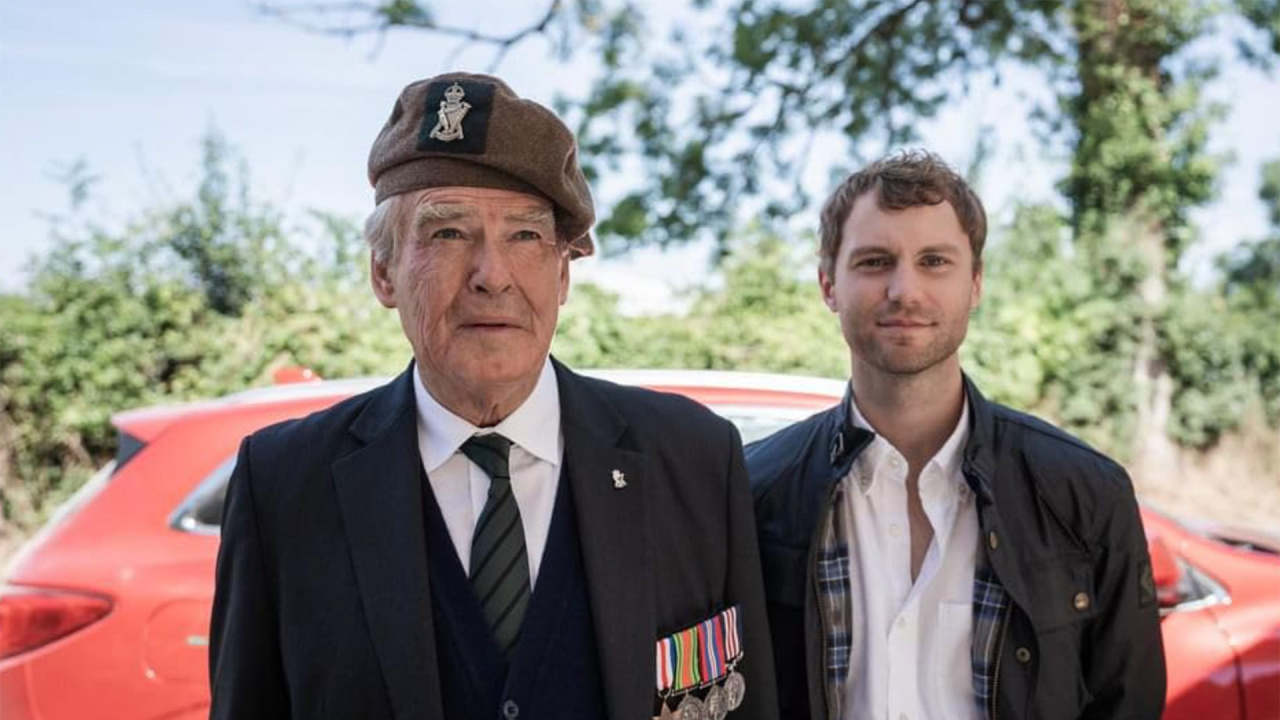
{"label": "young man's face with short stubble and slight smile", "polygon": [[855,373],[959,369],[982,273],[950,202],[882,210],[863,195],[841,228],[833,274],[819,272],[818,281]]}

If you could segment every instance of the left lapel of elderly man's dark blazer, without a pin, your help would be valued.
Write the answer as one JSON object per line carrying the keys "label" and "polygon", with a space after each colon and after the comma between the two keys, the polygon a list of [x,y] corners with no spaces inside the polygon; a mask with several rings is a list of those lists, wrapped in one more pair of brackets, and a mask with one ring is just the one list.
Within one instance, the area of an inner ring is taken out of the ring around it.
{"label": "left lapel of elderly man's dark blazer, without a pin", "polygon": [[375,391],[351,427],[365,446],[333,465],[343,529],[396,717],[439,717],[426,578],[413,365]]}

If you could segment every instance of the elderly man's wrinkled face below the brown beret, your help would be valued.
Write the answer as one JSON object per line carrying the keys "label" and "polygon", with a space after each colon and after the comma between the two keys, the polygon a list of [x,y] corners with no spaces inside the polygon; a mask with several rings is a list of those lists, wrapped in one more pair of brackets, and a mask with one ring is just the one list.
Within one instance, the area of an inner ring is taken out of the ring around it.
{"label": "elderly man's wrinkled face below the brown beret", "polygon": [[399,311],[428,388],[484,397],[536,382],[559,306],[568,255],[544,199],[479,187],[408,193],[389,265],[374,292]]}

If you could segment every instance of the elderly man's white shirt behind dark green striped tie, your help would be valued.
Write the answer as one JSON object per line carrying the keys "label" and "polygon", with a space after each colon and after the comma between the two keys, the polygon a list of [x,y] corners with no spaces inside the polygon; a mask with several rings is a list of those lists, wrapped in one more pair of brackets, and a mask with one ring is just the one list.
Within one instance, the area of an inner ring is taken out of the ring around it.
{"label": "elderly man's white shirt behind dark green striped tie", "polygon": [[529,585],[536,587],[543,564],[547,533],[556,509],[564,436],[559,425],[559,386],[548,359],[534,392],[492,428],[477,428],[436,402],[413,372],[413,397],[417,401],[417,450],[422,456],[435,502],[462,570],[471,571],[471,536],[489,497],[489,475],[458,451],[471,436],[499,433],[512,442],[511,491],[516,495],[520,520],[529,551]]}

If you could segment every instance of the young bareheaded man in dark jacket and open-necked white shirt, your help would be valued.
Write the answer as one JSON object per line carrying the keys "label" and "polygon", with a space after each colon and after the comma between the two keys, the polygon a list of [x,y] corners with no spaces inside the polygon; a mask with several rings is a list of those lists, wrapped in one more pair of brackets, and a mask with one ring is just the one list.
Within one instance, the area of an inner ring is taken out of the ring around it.
{"label": "young bareheaded man in dark jacket and open-necked white shirt", "polygon": [[927,152],[850,176],[823,208],[849,392],[748,448],[783,717],[1160,717],[1128,475],[961,372],[986,231]]}

